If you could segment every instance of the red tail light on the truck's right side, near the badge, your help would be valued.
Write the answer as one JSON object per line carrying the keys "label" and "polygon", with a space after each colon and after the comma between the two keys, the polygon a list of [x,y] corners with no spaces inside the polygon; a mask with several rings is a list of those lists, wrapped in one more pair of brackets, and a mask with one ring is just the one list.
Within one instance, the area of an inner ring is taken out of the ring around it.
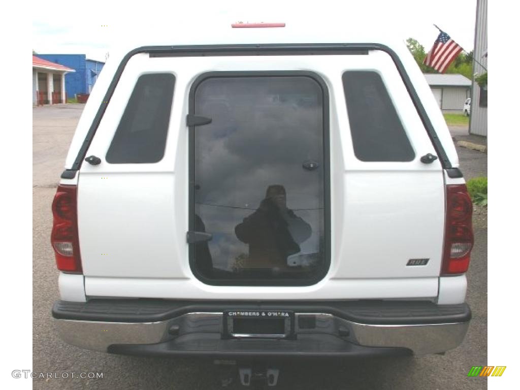
{"label": "red tail light on the truck's right side, near the badge", "polygon": [[446,186],[446,227],[443,275],[463,274],[470,265],[473,248],[473,204],[466,185]]}

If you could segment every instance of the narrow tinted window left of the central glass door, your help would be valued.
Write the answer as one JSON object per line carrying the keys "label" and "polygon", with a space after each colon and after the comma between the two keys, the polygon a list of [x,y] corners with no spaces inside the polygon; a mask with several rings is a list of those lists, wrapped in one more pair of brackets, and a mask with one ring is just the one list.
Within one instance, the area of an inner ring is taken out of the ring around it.
{"label": "narrow tinted window left of the central glass door", "polygon": [[175,76],[139,77],[107,152],[107,162],[156,163],[164,156]]}

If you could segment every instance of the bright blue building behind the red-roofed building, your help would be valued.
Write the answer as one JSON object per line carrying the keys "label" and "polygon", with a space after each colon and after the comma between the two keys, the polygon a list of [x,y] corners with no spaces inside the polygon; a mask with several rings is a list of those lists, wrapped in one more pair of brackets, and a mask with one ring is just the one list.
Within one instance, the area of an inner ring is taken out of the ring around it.
{"label": "bright blue building behind the red-roofed building", "polygon": [[102,62],[87,60],[84,54],[38,54],[38,57],[75,70],[65,75],[65,92],[68,98],[90,93],[104,65]]}

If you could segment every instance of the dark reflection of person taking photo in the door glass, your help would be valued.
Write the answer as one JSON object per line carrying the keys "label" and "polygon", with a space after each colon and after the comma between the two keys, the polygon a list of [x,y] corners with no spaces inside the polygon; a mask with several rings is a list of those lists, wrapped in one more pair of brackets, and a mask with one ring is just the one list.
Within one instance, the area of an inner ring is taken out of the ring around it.
{"label": "dark reflection of person taking photo in the door glass", "polygon": [[271,185],[258,209],[235,227],[238,239],[249,244],[246,268],[287,268],[287,256],[300,252],[299,243],[311,228],[287,208],[285,188]]}

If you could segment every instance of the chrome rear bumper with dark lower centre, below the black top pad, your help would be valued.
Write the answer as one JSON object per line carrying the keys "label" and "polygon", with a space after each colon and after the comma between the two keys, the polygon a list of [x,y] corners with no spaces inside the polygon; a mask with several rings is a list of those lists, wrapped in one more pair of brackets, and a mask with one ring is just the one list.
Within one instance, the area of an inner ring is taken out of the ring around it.
{"label": "chrome rear bumper with dark lower centre, below the black top pad", "polygon": [[[315,326],[300,326],[302,316],[314,318]],[[246,353],[277,356],[318,356],[323,353],[339,356],[342,355],[342,351],[348,352],[350,347],[367,347],[406,348],[414,355],[421,356],[456,348],[462,343],[469,326],[469,320],[446,323],[367,324],[328,313],[297,312],[294,322],[295,340],[272,342],[221,340],[223,312],[192,312],[154,322],[55,318],[60,337],[71,345],[103,352],[169,352],[171,355],[203,355],[206,352],[227,356]],[[375,352],[375,349],[373,351]]]}

